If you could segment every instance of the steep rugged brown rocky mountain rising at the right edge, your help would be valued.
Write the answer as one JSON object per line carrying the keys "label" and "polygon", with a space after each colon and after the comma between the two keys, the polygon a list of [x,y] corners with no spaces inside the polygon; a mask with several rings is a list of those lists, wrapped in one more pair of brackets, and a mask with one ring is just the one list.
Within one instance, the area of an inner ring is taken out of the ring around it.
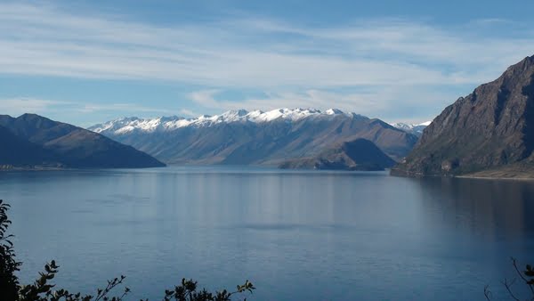
{"label": "steep rugged brown rocky mountain rising at the right edge", "polygon": [[393,175],[534,175],[534,57],[447,107]]}

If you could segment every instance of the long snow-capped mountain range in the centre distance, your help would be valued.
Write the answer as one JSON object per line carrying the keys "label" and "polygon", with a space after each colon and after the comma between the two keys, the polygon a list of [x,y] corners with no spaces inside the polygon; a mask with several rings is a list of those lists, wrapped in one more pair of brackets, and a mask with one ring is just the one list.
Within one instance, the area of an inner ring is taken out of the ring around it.
{"label": "long snow-capped mountain range in the centre distance", "polygon": [[379,119],[341,110],[230,110],[199,118],[121,118],[90,130],[178,164],[279,165],[365,138],[394,159],[417,142]]}

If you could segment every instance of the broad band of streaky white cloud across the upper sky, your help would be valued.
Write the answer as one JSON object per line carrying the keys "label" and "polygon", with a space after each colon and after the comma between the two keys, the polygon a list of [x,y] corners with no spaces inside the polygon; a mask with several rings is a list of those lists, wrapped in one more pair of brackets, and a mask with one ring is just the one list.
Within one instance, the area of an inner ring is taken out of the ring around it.
{"label": "broad band of streaky white cloud across the upper sky", "polygon": [[162,28],[50,5],[0,4],[0,72],[220,87],[457,84],[495,76],[534,49],[529,37],[470,32],[476,34],[394,19],[341,28],[243,18]]}

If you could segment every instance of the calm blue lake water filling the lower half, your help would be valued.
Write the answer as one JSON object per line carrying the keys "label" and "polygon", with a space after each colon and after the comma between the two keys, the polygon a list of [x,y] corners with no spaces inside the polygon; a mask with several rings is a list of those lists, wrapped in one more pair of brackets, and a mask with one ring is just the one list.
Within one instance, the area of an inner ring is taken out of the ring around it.
{"label": "calm blue lake water filling the lower half", "polygon": [[[168,167],[0,173],[29,281],[93,293],[127,276],[160,300],[182,277],[249,300],[484,300],[534,264],[534,183],[386,173]],[[118,291],[117,291],[118,293]]]}

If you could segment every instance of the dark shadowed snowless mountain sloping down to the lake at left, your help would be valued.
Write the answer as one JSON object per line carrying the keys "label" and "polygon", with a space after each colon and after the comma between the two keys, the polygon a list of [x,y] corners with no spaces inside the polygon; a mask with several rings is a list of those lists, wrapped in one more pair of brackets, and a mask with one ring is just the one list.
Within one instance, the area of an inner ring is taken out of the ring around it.
{"label": "dark shadowed snowless mountain sloping down to the lake at left", "polygon": [[0,164],[13,167],[162,167],[142,151],[34,114],[0,116]]}

